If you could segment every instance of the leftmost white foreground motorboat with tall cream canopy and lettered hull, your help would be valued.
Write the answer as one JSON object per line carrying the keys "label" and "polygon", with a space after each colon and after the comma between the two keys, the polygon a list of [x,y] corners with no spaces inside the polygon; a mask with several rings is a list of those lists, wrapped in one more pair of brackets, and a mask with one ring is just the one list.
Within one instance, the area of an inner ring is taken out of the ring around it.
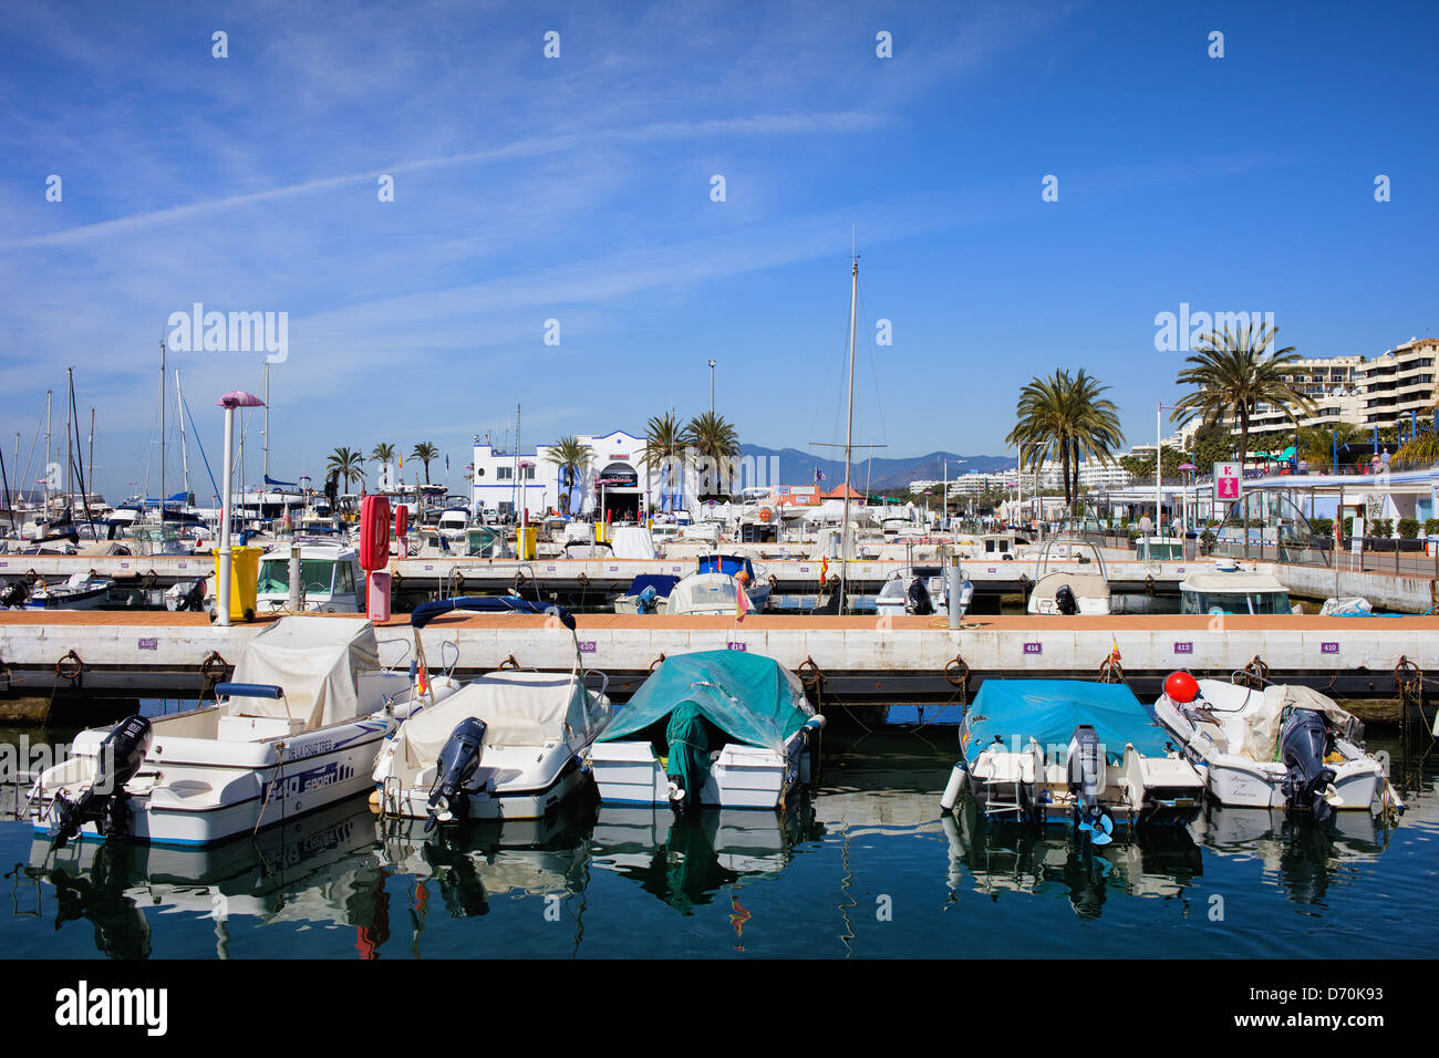
{"label": "leftmost white foreground motorboat with tall cream canopy and lettered hull", "polygon": [[30,792],[56,841],[206,845],[370,789],[380,741],[459,685],[380,668],[370,622],[283,618],[255,635],[216,705],[81,731]]}

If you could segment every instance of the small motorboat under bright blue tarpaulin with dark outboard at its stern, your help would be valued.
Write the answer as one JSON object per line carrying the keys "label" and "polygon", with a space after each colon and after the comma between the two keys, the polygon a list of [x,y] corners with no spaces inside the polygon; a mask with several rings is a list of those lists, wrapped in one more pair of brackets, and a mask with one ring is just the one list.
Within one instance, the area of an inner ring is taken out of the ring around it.
{"label": "small motorboat under bright blue tarpaulin with dark outboard at its stern", "polygon": [[967,789],[990,822],[1069,825],[1108,844],[1115,825],[1183,822],[1204,777],[1124,684],[986,679],[960,724],[940,806]]}

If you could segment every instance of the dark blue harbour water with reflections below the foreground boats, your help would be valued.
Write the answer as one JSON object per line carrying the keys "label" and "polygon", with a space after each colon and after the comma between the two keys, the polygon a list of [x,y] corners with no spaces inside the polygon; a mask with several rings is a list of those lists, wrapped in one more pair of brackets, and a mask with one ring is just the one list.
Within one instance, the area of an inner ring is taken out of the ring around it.
{"label": "dark blue harbour water with reflections below the foreground boats", "polygon": [[[943,717],[948,720],[950,717]],[[16,741],[19,733],[0,733]],[[49,733],[63,740],[69,733]],[[348,802],[210,851],[50,854],[0,822],[7,957],[1384,957],[1439,944],[1439,751],[1409,813],[1210,810],[1085,851],[941,816],[955,728],[826,737],[781,818],[577,805],[446,844]]]}

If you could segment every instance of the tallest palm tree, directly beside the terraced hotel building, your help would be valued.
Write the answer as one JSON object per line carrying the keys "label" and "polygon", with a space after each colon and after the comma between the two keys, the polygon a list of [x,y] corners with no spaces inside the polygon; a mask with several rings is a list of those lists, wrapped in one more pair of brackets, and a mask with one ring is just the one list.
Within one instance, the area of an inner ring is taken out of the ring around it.
{"label": "tallest palm tree, directly beside the terraced hotel building", "polygon": [[1199,340],[1194,356],[1184,363],[1193,364],[1179,373],[1180,386],[1193,386],[1170,420],[1186,423],[1196,415],[1206,423],[1223,422],[1226,416],[1239,423],[1239,465],[1245,465],[1249,453],[1249,417],[1261,403],[1282,407],[1289,420],[1298,425],[1295,409],[1311,413],[1314,402],[1285,381],[1285,370],[1299,358],[1294,345],[1271,351],[1278,327],[1265,330],[1250,324],[1242,334],[1210,331]]}

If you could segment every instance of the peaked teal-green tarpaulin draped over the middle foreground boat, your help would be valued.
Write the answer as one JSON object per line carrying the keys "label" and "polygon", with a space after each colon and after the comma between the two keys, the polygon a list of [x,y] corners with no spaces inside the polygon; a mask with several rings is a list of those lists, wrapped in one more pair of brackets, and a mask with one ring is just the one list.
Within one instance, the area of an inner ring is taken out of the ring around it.
{"label": "peaked teal-green tarpaulin draped over the middle foreground boat", "polygon": [[599,740],[632,736],[685,702],[732,740],[776,753],[814,715],[799,677],[773,658],[698,651],[665,658]]}

